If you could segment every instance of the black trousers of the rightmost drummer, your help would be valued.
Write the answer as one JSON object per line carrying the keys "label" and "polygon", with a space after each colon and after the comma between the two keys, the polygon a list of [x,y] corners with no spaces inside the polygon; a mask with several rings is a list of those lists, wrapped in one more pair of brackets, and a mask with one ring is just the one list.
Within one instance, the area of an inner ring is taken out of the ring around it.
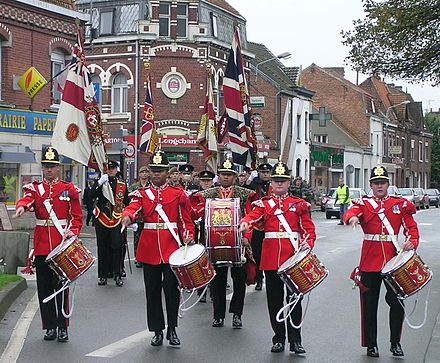
{"label": "black trousers of the rightmost drummer", "polygon": [[[363,347],[377,346],[377,308],[382,279],[380,272],[361,272],[361,282],[368,289],[361,293]],[[399,343],[402,333],[404,309],[393,289],[387,283],[385,283],[385,287],[387,289],[385,301],[390,306],[390,342]]]}

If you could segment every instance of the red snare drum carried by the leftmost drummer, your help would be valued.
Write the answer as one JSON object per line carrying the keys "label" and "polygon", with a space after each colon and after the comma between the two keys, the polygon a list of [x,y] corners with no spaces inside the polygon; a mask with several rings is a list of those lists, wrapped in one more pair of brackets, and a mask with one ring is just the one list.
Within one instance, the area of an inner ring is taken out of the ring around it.
{"label": "red snare drum carried by the leftmost drummer", "polygon": [[95,258],[77,236],[73,236],[55,247],[46,257],[46,263],[61,280],[69,283],[85,273]]}

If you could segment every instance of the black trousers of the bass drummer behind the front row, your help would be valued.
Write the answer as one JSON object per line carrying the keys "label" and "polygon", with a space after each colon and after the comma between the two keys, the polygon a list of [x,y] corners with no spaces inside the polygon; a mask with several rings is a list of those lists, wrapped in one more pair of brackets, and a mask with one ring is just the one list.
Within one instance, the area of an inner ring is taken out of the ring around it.
{"label": "black trousers of the bass drummer behind the front row", "polygon": [[[214,319],[224,319],[226,312],[226,282],[228,267],[214,267],[216,276],[212,280],[212,293],[214,305]],[[246,269],[244,266],[231,267],[233,285],[232,299],[229,304],[229,312],[242,315],[244,296],[246,294]]]}

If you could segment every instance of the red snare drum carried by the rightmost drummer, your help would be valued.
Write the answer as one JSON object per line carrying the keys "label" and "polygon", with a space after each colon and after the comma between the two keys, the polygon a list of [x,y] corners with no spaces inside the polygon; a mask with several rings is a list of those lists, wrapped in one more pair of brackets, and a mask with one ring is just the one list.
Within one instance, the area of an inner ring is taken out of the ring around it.
{"label": "red snare drum carried by the rightmost drummer", "polygon": [[410,250],[389,260],[382,269],[382,276],[400,298],[406,299],[431,280],[432,271],[414,250]]}

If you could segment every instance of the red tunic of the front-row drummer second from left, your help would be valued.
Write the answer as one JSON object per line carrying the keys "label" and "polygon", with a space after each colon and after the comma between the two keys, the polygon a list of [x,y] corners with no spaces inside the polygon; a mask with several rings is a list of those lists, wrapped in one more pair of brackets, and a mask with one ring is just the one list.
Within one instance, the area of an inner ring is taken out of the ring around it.
{"label": "red tunic of the front-row drummer second from left", "polygon": [[[151,190],[154,194],[154,201],[148,197],[147,190]],[[150,186],[135,190],[130,197],[130,204],[124,208],[122,218],[128,216],[135,221],[140,217],[144,223],[164,224],[163,219],[155,211],[159,202],[170,222],[177,223],[175,231],[180,234],[181,241],[186,237],[194,239],[191,204],[182,189],[167,184],[161,188]],[[168,263],[170,255],[178,248],[179,245],[166,226],[163,229],[144,227],[139,237],[136,260],[150,265]]]}

